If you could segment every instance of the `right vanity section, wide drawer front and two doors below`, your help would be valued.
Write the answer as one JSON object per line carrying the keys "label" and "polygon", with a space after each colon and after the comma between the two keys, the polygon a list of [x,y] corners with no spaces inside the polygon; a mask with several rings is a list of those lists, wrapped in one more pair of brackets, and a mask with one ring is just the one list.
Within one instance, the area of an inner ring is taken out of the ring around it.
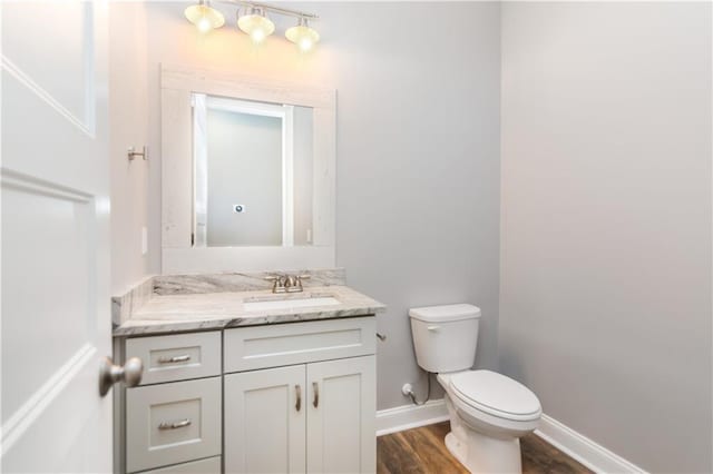
{"label": "right vanity section, wide drawer front and two doors below", "polygon": [[226,330],[225,371],[250,372],[225,375],[225,472],[374,472],[374,325],[360,317]]}

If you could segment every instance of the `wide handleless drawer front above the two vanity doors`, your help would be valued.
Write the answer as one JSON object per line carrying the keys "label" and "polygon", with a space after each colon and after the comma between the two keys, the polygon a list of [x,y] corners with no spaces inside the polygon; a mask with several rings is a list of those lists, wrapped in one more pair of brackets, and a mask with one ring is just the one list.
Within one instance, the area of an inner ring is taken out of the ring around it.
{"label": "wide handleless drawer front above the two vanity doors", "polygon": [[227,329],[225,373],[374,354],[375,333],[373,316]]}

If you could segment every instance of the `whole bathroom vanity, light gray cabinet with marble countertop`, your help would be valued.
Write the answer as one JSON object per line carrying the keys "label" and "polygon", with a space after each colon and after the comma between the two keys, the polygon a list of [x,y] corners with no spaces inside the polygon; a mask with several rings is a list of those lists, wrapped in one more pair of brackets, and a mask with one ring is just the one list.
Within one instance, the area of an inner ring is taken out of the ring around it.
{"label": "whole bathroom vanity, light gray cabinet with marble countertop", "polygon": [[115,356],[144,363],[138,386],[115,387],[116,471],[373,472],[384,307],[343,285],[189,293],[216,277],[183,279],[115,299]]}

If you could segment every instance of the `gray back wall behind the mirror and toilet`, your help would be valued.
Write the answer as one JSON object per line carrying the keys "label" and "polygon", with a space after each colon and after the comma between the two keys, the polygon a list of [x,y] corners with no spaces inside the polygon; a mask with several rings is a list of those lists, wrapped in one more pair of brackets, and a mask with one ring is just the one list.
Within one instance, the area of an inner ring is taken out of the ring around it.
{"label": "gray back wall behind the mirror and toilet", "polygon": [[[481,306],[478,365],[494,367],[499,4],[291,3],[322,17],[323,42],[310,56],[280,34],[260,49],[233,27],[198,37],[183,18],[186,4],[146,4],[153,270],[160,270],[159,63],[334,88],[338,264],[346,267],[351,286],[389,305],[378,318],[379,330],[389,337],[379,347],[379,408],[409,403],[401,385],[421,377],[410,306]],[[234,11],[225,9],[228,21]],[[436,24],[438,34],[426,34],[436,13],[448,28]],[[275,20],[279,31],[292,24]]]}

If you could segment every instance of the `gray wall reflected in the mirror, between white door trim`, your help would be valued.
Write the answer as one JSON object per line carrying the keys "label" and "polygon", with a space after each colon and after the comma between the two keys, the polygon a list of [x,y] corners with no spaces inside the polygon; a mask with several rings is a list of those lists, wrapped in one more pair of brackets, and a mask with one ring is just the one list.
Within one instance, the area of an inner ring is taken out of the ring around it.
{"label": "gray wall reflected in the mirror, between white door trim", "polygon": [[282,119],[208,108],[206,137],[208,247],[282,245]]}

